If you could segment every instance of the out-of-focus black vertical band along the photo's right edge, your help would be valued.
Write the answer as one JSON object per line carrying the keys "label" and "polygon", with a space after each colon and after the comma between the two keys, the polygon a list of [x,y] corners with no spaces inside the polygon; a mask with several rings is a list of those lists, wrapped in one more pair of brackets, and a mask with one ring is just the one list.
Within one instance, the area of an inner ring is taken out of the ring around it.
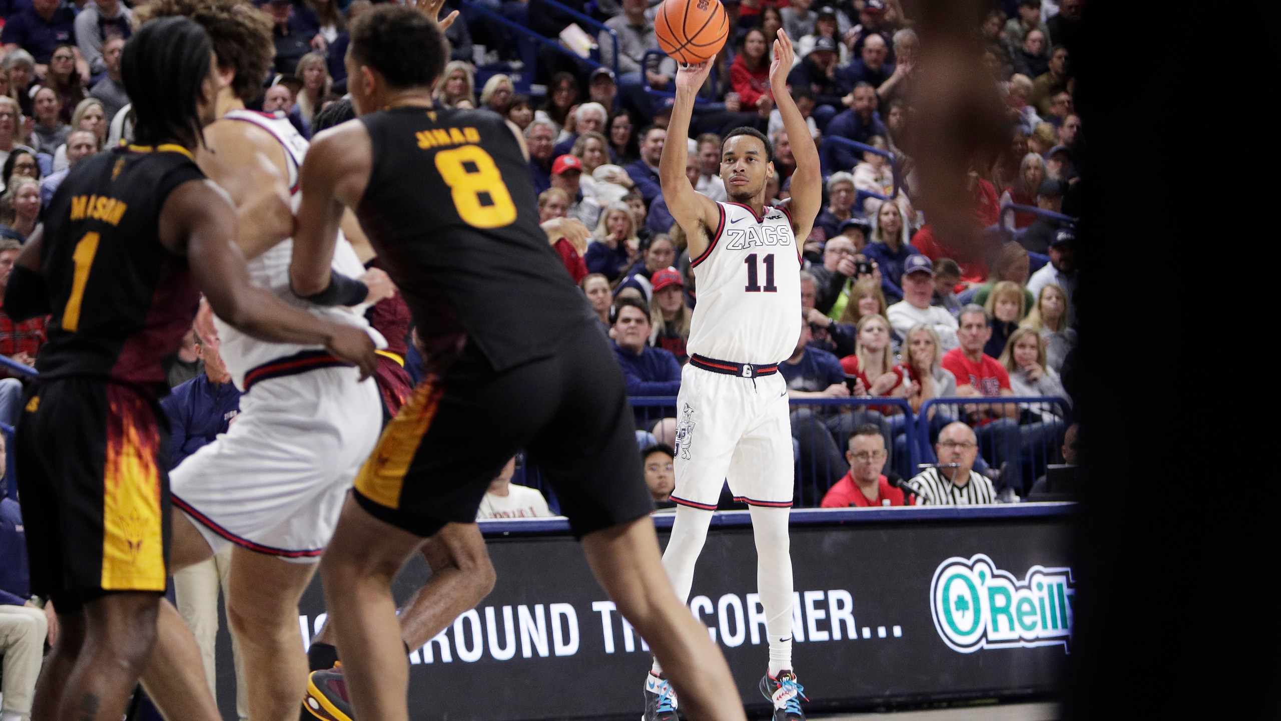
{"label": "out-of-focus black vertical band along the photo's right edge", "polygon": [[[1203,10],[1198,18],[1216,17]],[[1065,718],[1281,718],[1277,604],[1263,590],[1281,561],[1276,522],[1262,518],[1275,514],[1266,498],[1276,480],[1253,480],[1277,450],[1245,430],[1269,394],[1194,369],[1205,353],[1222,354],[1227,368],[1249,337],[1221,314],[1202,318],[1221,305],[1198,296],[1222,284],[1228,307],[1248,304],[1241,281],[1266,272],[1212,271],[1211,258],[1246,260],[1252,230],[1243,226],[1262,216],[1275,235],[1276,209],[1254,205],[1248,191],[1232,201],[1241,213],[1218,219],[1214,191],[1203,210],[1189,205],[1195,154],[1235,178],[1225,190],[1248,183],[1231,167],[1230,114],[1225,126],[1193,127],[1196,118],[1217,124],[1205,109],[1214,103],[1198,100],[1212,83],[1176,69],[1199,60],[1180,60],[1172,37],[1186,32],[1189,49],[1213,42],[1187,26],[1167,35],[1163,14],[1180,15],[1172,5],[1090,3],[1070,58],[1089,160],[1076,189],[1081,341],[1076,377],[1065,380],[1075,386],[1088,482]],[[1223,49],[1232,67],[1252,67]],[[1235,98],[1222,80],[1214,92]],[[1214,250],[1228,239],[1240,244]],[[1267,432],[1275,439],[1275,418]]]}

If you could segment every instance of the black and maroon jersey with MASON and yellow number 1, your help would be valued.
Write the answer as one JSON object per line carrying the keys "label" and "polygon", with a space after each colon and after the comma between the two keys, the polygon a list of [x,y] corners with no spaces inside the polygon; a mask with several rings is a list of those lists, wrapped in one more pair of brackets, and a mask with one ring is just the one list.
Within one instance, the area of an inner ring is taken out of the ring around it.
{"label": "black and maroon jersey with MASON and yellow number 1", "polygon": [[160,209],[204,173],[177,145],[124,146],[77,163],[45,214],[41,267],[53,318],[42,380],[90,376],[163,394],[161,359],[200,301],[187,258],[160,244]]}

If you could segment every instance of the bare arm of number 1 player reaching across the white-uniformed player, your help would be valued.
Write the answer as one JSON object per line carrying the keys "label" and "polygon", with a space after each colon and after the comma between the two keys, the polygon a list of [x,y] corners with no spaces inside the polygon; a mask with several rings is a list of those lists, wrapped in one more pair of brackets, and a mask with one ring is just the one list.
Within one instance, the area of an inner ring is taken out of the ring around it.
{"label": "bare arm of number 1 player reaching across the white-uniformed player", "polygon": [[169,194],[160,212],[160,240],[182,250],[183,239],[191,275],[218,317],[259,340],[323,344],[359,366],[363,377],[373,375],[378,357],[365,331],[291,308],[252,285],[224,190],[209,181],[191,181]]}

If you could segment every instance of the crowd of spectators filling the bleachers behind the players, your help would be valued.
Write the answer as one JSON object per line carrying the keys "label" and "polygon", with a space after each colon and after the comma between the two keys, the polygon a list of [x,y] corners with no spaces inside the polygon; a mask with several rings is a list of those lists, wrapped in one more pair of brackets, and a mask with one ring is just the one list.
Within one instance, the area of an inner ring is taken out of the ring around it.
{"label": "crowd of spectators filling the bleachers behind the players", "polygon": [[[310,136],[316,114],[345,94],[346,27],[370,3],[259,6],[272,18],[275,42],[260,106]],[[523,130],[541,222],[560,227],[576,219],[591,233],[587,242],[565,233],[553,248],[602,328],[614,336],[620,322],[637,325],[633,316],[647,316],[643,337],[630,328],[616,344],[633,394],[661,386],[667,389],[661,395],[674,395],[698,298],[684,231],[658,183],[664,145],[687,142],[689,182],[724,200],[720,137],[756,127],[775,150],[769,203],[788,201],[796,160],[767,82],[769,40],[783,28],[797,46],[789,85],[820,142],[826,196],[803,239],[806,340],[784,363],[794,394],[886,396],[913,411],[952,395],[1067,398],[1076,344],[1071,217],[1085,162],[1071,64],[1081,0],[994,1],[975,28],[1011,126],[1008,148],[976,159],[968,174],[965,190],[975,225],[984,228],[977,245],[936,233],[916,203],[910,149],[921,38],[899,0],[725,0],[724,6],[729,38],[712,60],[715,73],[685,139],[666,132],[675,63],[657,50],[657,3],[447,0],[445,8],[461,17],[446,33],[451,60],[437,85],[438,103],[488,108]],[[124,0],[0,0],[0,18],[3,272],[40,227],[68,168],[129,139],[119,63],[136,19]],[[596,42],[585,56],[560,41],[576,31]],[[1003,212],[1007,205],[1018,209]],[[628,296],[633,303],[621,303]],[[981,327],[968,332],[967,321]],[[42,339],[42,321],[15,326],[0,308],[0,354],[31,366]],[[657,360],[643,360],[649,355]],[[190,380],[199,367],[192,340],[173,358],[172,382]],[[843,453],[856,426],[880,427],[890,455],[903,443],[894,405],[807,413],[797,407],[798,446],[812,422],[824,426],[821,445],[833,459],[824,472],[831,476],[828,485],[848,468]],[[999,428],[1026,434],[1036,425],[1048,426],[1038,434],[1063,431],[1062,418],[1022,407],[1004,413],[1000,403],[958,414],[980,436]],[[671,443],[664,435],[670,423],[643,425]],[[980,470],[990,464],[993,475],[1011,462],[1007,453],[983,455]],[[911,472],[903,463],[898,454],[890,464]],[[816,467],[811,457],[798,464]],[[1022,477],[1011,488],[1026,490],[1043,466],[1017,470],[1013,477]]]}

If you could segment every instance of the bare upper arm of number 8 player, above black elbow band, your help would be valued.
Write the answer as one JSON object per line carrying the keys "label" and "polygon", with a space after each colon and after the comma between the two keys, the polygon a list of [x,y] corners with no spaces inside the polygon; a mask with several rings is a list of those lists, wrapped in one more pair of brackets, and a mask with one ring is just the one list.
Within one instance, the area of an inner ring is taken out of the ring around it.
{"label": "bare upper arm of number 8 player, above black elbow band", "polygon": [[[293,258],[290,285],[300,298],[314,296],[329,286],[333,249],[343,204],[355,205],[365,192],[371,167],[369,132],[359,121],[332,127],[311,141],[298,171],[302,200],[293,228]],[[339,178],[351,187],[339,187]],[[359,185],[359,187],[356,187]]]}

